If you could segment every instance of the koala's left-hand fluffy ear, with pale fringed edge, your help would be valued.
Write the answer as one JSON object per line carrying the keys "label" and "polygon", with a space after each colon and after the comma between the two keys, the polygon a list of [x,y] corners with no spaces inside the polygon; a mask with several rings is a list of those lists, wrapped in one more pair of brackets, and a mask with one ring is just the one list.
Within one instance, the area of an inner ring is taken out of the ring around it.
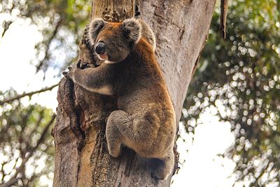
{"label": "koala's left-hand fluffy ear, with pale fringed edge", "polygon": [[102,28],[106,25],[106,22],[102,20],[102,18],[94,18],[90,22],[90,28],[89,28],[89,39],[90,44],[93,46],[95,43],[95,39],[97,38],[97,35],[102,30]]}

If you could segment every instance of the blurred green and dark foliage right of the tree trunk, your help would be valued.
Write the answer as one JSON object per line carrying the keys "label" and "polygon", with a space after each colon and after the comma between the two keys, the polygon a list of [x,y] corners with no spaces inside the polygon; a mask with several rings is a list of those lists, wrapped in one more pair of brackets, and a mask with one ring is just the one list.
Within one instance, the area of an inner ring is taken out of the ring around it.
{"label": "blurred green and dark foliage right of the tree trunk", "polygon": [[225,156],[237,163],[237,181],[250,186],[280,186],[279,8],[275,0],[232,1],[225,41],[216,9],[183,110],[189,125],[213,107],[221,121],[230,121],[236,141]]}

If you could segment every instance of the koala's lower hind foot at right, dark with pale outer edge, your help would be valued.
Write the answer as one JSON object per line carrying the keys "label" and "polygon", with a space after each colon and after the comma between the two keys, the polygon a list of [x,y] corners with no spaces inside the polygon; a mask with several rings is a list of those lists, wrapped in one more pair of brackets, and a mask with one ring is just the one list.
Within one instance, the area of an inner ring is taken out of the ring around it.
{"label": "koala's lower hind foot at right, dark with pale outer edge", "polygon": [[167,179],[174,167],[174,152],[173,148],[169,148],[167,155],[162,159],[152,160],[152,177],[155,179]]}

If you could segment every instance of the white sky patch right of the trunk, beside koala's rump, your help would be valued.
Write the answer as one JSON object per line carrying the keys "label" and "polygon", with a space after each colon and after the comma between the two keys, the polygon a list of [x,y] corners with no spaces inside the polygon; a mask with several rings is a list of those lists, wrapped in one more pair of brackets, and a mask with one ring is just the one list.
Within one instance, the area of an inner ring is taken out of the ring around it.
{"label": "white sky patch right of the trunk, beside koala's rump", "polygon": [[235,163],[218,156],[234,141],[230,123],[219,122],[209,111],[200,120],[202,124],[197,125],[195,134],[186,134],[184,126],[180,124],[182,138],[177,141],[178,151],[180,160],[186,162],[183,162],[179,173],[173,177],[172,187],[232,186],[234,180],[230,175]]}

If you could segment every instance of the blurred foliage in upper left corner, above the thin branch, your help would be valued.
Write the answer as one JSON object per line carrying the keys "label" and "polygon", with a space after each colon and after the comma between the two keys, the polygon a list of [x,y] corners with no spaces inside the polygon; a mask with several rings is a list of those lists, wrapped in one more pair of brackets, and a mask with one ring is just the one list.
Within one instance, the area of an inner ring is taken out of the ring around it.
{"label": "blurred foliage in upper left corner, above the thin branch", "polygon": [[85,27],[90,15],[89,3],[83,0],[3,0],[0,2],[0,12],[5,15],[0,22],[2,37],[16,20],[29,20],[43,35],[32,63],[43,71],[48,67],[63,69],[77,56],[77,45],[83,34],[80,28]]}

